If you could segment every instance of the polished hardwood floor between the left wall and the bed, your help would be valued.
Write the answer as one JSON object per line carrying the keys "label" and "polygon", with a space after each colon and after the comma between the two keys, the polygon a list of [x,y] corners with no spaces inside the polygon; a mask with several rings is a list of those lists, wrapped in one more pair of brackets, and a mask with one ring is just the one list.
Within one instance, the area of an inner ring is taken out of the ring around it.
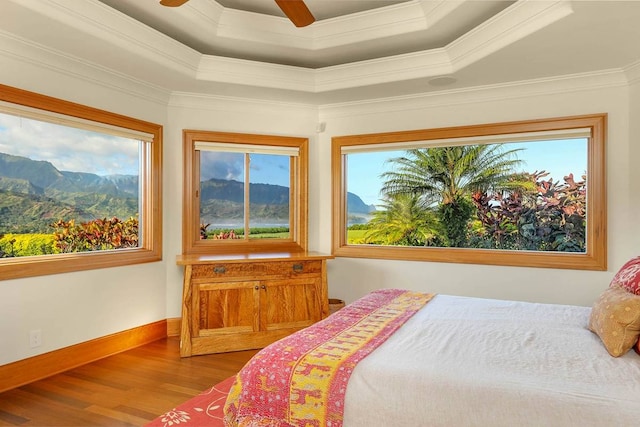
{"label": "polished hardwood floor between the left wall and the bed", "polygon": [[0,394],[0,426],[142,426],[257,350],[180,358],[172,337]]}

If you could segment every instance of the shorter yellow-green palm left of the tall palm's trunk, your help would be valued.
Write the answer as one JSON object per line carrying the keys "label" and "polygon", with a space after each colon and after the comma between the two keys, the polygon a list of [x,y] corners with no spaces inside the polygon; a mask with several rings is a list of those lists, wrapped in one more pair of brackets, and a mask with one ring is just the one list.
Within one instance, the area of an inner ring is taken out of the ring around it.
{"label": "shorter yellow-green palm left of the tall palm's trunk", "polygon": [[374,213],[364,241],[369,244],[427,246],[442,235],[438,217],[415,195],[385,197],[382,209]]}

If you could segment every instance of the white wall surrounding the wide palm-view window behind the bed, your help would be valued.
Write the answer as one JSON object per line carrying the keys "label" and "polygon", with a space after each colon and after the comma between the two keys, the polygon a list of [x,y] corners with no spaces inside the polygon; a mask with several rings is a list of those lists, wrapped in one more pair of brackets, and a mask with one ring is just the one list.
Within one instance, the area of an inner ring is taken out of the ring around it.
{"label": "white wall surrounding the wide palm-view window behind the bed", "polygon": [[[321,182],[329,179],[332,136],[589,113],[609,115],[608,271],[341,258],[329,263],[330,296],[350,302],[376,288],[399,287],[589,306],[609,285],[615,271],[639,252],[637,210],[632,207],[638,207],[640,198],[636,172],[640,152],[636,141],[638,128],[630,135],[628,86],[621,84],[621,76],[615,74],[322,107],[320,120],[327,123],[327,131],[320,140]],[[328,185],[319,188],[319,196],[326,203],[321,203],[323,220],[317,226],[327,231],[330,192]],[[321,235],[318,246],[329,250],[329,233]]]}

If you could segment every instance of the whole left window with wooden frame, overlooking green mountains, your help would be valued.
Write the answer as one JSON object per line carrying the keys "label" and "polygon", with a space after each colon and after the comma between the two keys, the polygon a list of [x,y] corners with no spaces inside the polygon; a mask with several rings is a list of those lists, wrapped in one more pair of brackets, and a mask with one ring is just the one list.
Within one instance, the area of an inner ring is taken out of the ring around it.
{"label": "whole left window with wooden frame, overlooking green mountains", "polygon": [[0,279],[160,260],[161,132],[0,85]]}

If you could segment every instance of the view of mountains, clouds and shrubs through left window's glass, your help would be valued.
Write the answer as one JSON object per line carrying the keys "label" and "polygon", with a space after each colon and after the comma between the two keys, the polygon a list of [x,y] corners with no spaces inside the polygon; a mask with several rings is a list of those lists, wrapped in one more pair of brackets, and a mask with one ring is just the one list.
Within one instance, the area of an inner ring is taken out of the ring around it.
{"label": "view of mountains, clouds and shrubs through left window's glass", "polygon": [[141,142],[0,113],[0,257],[139,247]]}

